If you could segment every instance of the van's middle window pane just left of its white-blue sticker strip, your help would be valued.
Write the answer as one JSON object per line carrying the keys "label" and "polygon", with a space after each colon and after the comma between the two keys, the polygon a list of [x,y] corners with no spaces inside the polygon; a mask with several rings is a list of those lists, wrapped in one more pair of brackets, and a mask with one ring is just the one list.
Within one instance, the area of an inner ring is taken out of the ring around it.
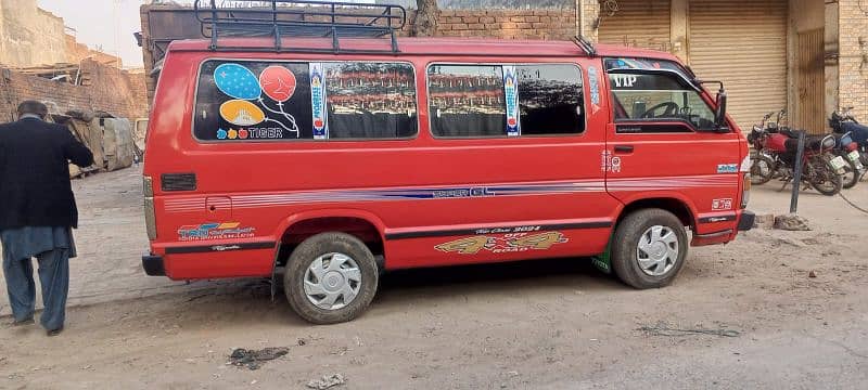
{"label": "van's middle window pane just left of its white-blue sticker strip", "polygon": [[433,65],[427,70],[434,136],[507,135],[503,69],[490,65]]}

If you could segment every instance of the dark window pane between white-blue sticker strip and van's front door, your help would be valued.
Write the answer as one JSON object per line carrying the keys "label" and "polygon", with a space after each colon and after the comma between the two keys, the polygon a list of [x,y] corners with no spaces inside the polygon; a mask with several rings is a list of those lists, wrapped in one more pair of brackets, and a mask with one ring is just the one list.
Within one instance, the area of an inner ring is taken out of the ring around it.
{"label": "dark window pane between white-blue sticker strip and van's front door", "polygon": [[582,75],[573,65],[516,66],[521,133],[570,134],[585,130]]}

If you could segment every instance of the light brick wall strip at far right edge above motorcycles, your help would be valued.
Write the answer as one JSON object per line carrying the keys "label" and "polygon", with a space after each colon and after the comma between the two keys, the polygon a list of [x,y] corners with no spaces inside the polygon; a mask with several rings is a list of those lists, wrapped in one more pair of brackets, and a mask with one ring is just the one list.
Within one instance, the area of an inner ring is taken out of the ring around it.
{"label": "light brick wall strip at far right edge above motorcycles", "polygon": [[[861,8],[859,6],[861,3]],[[868,1],[839,1],[839,98],[868,120]]]}

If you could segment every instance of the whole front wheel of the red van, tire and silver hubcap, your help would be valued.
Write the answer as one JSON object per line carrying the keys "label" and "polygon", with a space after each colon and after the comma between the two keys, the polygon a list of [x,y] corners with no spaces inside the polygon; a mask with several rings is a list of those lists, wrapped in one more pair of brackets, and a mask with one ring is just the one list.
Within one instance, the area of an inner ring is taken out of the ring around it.
{"label": "whole front wheel of the red van, tire and silver hubcap", "polygon": [[625,284],[639,289],[672,283],[687,258],[687,232],[672,212],[643,209],[615,229],[612,269]]}

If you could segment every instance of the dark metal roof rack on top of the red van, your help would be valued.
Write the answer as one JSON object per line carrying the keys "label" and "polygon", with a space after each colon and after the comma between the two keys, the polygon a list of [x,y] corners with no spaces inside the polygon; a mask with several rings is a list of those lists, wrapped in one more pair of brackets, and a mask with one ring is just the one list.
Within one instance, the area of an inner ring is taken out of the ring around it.
{"label": "dark metal roof rack on top of the red van", "polygon": [[[210,38],[210,50],[305,52],[399,52],[396,31],[407,23],[407,10],[391,4],[358,4],[312,0],[196,0],[193,4],[202,36]],[[340,38],[382,38],[388,50],[347,50]],[[275,47],[221,46],[218,38],[272,37]],[[284,37],[331,38],[331,49],[284,48]]]}

